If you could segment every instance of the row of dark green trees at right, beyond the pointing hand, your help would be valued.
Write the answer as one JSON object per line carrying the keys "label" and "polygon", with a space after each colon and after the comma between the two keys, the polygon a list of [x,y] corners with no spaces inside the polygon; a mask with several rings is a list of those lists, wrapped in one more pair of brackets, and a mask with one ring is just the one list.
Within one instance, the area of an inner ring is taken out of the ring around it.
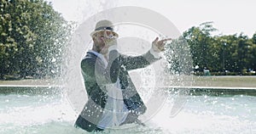
{"label": "row of dark green trees at right, beyond the pointing hand", "polygon": [[250,73],[247,70],[256,70],[256,33],[250,39],[242,33],[239,36],[212,36],[212,31],[216,29],[211,22],[207,22],[183,32],[189,43],[194,66],[221,75],[248,75]]}

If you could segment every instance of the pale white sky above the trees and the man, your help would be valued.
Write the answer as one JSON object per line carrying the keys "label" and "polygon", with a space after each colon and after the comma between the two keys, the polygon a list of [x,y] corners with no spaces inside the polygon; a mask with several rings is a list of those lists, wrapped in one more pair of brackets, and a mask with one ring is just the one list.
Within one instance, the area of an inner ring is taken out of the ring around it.
{"label": "pale white sky above the trees and the man", "polygon": [[256,32],[255,0],[48,0],[66,20],[83,23],[104,9],[120,6],[149,8],[172,21],[180,32],[212,21],[218,35]]}

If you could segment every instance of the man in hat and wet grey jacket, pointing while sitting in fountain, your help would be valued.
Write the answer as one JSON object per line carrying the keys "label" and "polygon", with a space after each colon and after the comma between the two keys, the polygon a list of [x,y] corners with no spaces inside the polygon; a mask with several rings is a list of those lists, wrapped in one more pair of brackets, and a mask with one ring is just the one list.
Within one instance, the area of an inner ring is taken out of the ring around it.
{"label": "man in hat and wet grey jacket, pointing while sitting in fountain", "polygon": [[118,34],[113,31],[109,20],[97,22],[90,36],[92,50],[88,51],[81,62],[84,86],[88,102],[75,122],[86,131],[103,131],[105,128],[128,123],[139,123],[140,114],[146,106],[131,81],[128,70],[144,68],[160,59],[168,40],[152,42],[152,48],[141,56],[131,57],[118,53]]}

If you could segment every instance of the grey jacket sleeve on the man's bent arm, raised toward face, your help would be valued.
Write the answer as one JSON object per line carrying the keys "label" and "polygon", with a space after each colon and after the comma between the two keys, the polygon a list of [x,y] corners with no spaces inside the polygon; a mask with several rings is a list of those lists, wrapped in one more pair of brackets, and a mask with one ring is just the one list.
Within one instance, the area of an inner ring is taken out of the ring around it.
{"label": "grey jacket sleeve on the man's bent arm, raised toward face", "polygon": [[95,79],[99,85],[114,83],[119,75],[119,53],[117,50],[109,52],[107,68],[99,59],[90,57],[82,60],[81,69],[83,75]]}

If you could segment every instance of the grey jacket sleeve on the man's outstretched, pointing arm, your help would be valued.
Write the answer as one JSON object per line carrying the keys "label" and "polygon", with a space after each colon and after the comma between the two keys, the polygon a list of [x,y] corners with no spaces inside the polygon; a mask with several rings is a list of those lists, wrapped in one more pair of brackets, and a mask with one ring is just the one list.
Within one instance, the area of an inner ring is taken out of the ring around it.
{"label": "grey jacket sleeve on the man's outstretched, pointing arm", "polygon": [[126,70],[136,70],[136,69],[144,68],[159,59],[160,58],[155,58],[150,51],[148,51],[143,55],[135,56],[135,57],[122,55],[121,65],[124,65]]}

